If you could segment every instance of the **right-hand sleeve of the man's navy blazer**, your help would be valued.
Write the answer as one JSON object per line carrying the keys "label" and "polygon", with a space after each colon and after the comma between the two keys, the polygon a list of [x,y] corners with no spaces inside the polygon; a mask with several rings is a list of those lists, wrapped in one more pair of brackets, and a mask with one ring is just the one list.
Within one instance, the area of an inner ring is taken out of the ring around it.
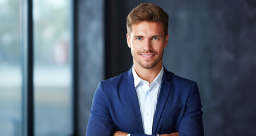
{"label": "right-hand sleeve of the man's navy blazer", "polygon": [[184,116],[178,127],[180,136],[203,136],[204,127],[202,124],[202,105],[196,82],[193,82],[190,90]]}

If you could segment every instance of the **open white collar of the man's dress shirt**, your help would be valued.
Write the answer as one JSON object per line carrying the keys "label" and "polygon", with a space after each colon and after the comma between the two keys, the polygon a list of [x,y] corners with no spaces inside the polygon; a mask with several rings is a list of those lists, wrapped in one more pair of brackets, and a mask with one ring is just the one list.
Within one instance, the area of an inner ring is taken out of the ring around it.
{"label": "open white collar of the man's dress shirt", "polygon": [[[133,66],[132,66],[132,75],[133,75],[133,78],[134,78],[134,86],[136,88],[138,86],[138,84],[140,83],[140,81],[143,80],[143,79],[141,79],[139,77],[139,75],[137,75]],[[162,75],[164,75],[164,66],[162,66],[162,69],[161,69],[160,73],[156,76],[156,78],[153,80],[153,82],[156,82],[157,84],[159,84],[159,86],[161,86]]]}

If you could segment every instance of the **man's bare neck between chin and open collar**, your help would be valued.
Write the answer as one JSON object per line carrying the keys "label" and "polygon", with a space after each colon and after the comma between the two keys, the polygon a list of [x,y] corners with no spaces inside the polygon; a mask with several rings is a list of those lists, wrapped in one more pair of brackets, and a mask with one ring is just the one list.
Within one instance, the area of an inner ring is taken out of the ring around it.
{"label": "man's bare neck between chin and open collar", "polygon": [[140,76],[141,79],[146,80],[149,82],[149,84],[151,84],[162,69],[162,61],[151,69],[145,69],[141,67],[138,63],[133,63],[133,67],[137,75]]}

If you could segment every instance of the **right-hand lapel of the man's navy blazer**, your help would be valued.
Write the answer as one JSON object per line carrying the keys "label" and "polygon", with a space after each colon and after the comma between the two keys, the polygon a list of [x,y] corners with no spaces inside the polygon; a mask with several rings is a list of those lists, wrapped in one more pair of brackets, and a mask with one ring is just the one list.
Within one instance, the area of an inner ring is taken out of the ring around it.
{"label": "right-hand lapel of the man's navy blazer", "polygon": [[153,119],[152,134],[157,133],[157,127],[159,125],[160,117],[165,106],[165,102],[168,99],[172,84],[168,82],[170,79],[169,72],[164,68],[164,75],[162,76],[161,89],[156,104],[156,112]]}

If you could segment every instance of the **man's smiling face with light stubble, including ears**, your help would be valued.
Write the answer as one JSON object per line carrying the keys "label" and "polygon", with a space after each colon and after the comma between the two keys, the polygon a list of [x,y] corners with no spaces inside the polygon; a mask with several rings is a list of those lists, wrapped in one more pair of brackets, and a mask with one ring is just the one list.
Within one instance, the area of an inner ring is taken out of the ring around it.
{"label": "man's smiling face with light stubble, including ears", "polygon": [[127,34],[127,44],[131,48],[133,64],[139,64],[144,69],[162,65],[168,37],[164,37],[164,27],[160,22],[143,21],[132,24],[131,35]]}

